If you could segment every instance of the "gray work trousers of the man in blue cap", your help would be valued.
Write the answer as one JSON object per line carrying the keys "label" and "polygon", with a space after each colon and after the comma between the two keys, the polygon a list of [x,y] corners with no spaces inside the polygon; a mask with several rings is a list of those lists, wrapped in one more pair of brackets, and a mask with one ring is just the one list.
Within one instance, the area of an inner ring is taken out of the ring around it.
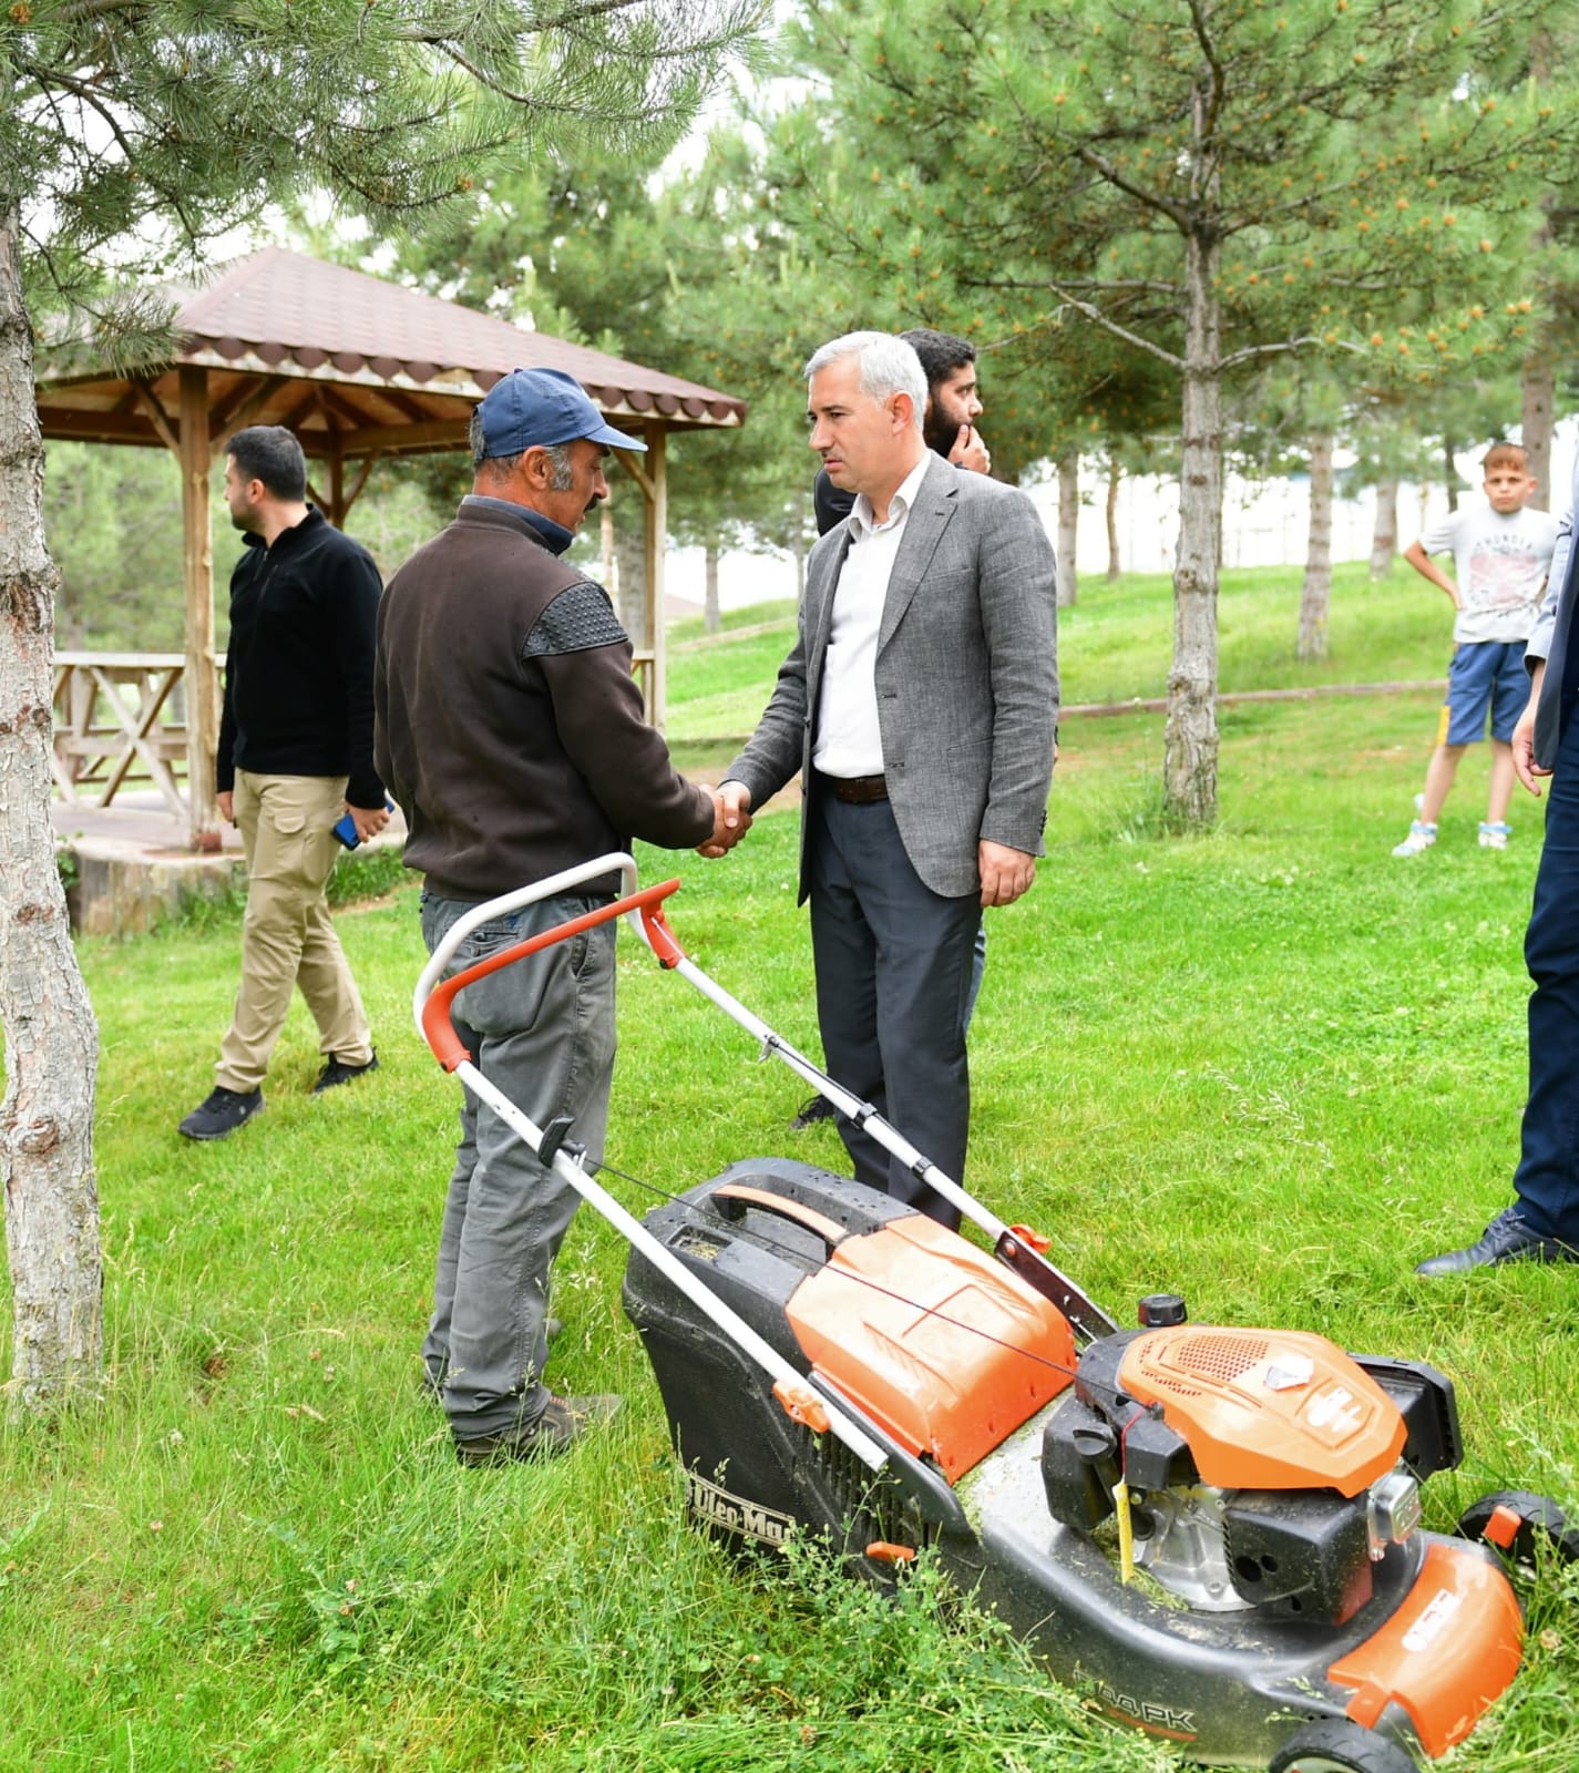
{"label": "gray work trousers of the man in blue cap", "polygon": [[[569,894],[475,929],[448,972],[603,904]],[[471,904],[424,894],[429,954]],[[571,1115],[571,1138],[603,1156],[615,1058],[615,926],[530,954],[455,998],[455,1032],[477,1069],[537,1126]],[[445,1200],[432,1323],[422,1344],[455,1440],[500,1434],[548,1406],[549,1269],[579,1195],[471,1090]]]}

